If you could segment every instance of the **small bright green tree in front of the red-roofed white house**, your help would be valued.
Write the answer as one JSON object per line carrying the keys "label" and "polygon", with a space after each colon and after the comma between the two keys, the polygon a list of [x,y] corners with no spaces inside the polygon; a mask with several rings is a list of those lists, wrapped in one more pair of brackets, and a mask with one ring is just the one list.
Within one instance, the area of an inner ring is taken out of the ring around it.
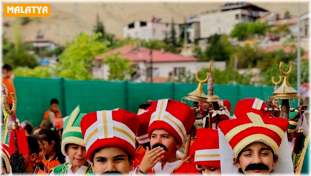
{"label": "small bright green tree in front of the red-roofed white house", "polygon": [[120,53],[106,56],[104,63],[109,65],[108,80],[125,80],[127,75],[132,75],[135,72],[132,61],[129,58],[121,58]]}

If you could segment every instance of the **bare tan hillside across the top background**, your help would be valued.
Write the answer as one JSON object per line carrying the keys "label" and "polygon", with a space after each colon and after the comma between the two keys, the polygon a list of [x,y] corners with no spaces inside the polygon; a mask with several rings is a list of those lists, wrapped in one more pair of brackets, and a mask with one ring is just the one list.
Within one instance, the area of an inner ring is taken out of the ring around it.
{"label": "bare tan hillside across the top background", "polygon": [[[4,2],[6,3],[6,2]],[[51,4],[51,16],[33,18],[26,25],[22,25],[23,39],[35,39],[38,30],[44,33],[44,38],[53,39],[58,44],[65,44],[72,40],[72,35],[80,32],[92,33],[96,21],[96,13],[99,13],[105,29],[113,33],[117,38],[123,37],[123,26],[134,20],[150,21],[151,16],[162,16],[163,22],[183,22],[184,18],[192,13],[199,14],[202,10],[210,10],[222,6],[222,3],[53,3]],[[297,3],[254,3],[269,11],[297,14]],[[301,14],[308,12],[306,2],[300,4]],[[2,6],[3,8],[3,6]],[[14,18],[4,17],[3,32],[8,39],[12,39],[11,26]]]}

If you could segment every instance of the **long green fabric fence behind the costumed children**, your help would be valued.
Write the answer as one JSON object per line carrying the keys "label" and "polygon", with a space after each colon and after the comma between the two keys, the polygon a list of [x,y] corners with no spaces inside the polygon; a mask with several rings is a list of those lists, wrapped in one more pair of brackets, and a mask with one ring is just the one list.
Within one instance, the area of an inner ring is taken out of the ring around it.
{"label": "long green fabric fence behind the costumed children", "polygon": [[[137,113],[138,106],[147,99],[169,98],[181,101],[196,89],[197,84],[186,83],[134,83],[128,81],[77,81],[63,78],[42,79],[16,77],[16,116],[39,125],[50,100],[58,99],[63,117],[80,104],[82,113],[122,108]],[[203,85],[207,94],[207,84]],[[244,98],[267,100],[273,86],[214,85],[214,95],[231,102],[231,115],[237,101]],[[297,100],[295,101],[297,107]]]}

